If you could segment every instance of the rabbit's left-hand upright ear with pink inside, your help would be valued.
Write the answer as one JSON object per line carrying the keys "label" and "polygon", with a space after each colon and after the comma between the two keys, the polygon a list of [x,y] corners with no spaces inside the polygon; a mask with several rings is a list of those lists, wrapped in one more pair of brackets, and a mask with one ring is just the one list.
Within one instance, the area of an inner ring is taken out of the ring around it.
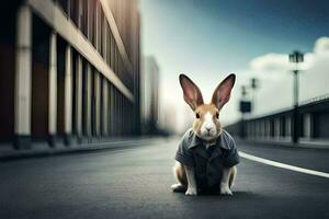
{"label": "rabbit's left-hand upright ear with pink inside", "polygon": [[193,111],[195,111],[197,106],[203,104],[203,97],[200,89],[185,74],[180,74],[180,83],[183,89],[185,102]]}

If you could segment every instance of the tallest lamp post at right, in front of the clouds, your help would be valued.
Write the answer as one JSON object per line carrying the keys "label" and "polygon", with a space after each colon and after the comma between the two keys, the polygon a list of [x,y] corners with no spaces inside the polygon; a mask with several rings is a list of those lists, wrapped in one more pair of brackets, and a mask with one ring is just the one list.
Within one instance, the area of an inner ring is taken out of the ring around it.
{"label": "tallest lamp post at right, in front of the clouds", "polygon": [[290,62],[296,64],[294,72],[294,111],[293,111],[293,142],[298,142],[299,127],[298,127],[298,68],[297,65],[304,61],[304,55],[300,51],[293,51],[290,54]]}

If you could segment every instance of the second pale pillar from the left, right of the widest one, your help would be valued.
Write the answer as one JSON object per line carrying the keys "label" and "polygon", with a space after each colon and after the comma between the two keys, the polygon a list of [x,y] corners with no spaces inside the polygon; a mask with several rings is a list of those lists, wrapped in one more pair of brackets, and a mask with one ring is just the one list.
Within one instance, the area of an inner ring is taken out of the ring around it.
{"label": "second pale pillar from the left, right of the widest one", "polygon": [[50,33],[49,41],[48,143],[55,147],[57,132],[57,36],[55,32]]}

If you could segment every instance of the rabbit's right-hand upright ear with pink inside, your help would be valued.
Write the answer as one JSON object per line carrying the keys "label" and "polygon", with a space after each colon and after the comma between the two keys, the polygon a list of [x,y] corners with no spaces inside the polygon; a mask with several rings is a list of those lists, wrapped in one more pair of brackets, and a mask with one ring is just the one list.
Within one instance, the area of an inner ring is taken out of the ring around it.
{"label": "rabbit's right-hand upright ear with pink inside", "polygon": [[224,79],[219,85],[215,89],[212,103],[217,106],[218,110],[220,110],[224,104],[226,104],[229,101],[230,91],[236,82],[236,76],[234,73],[229,74]]}

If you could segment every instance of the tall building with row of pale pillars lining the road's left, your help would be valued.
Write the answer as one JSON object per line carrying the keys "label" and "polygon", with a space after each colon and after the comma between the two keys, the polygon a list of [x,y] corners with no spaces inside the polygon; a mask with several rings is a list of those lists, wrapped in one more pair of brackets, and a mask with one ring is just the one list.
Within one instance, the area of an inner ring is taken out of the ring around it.
{"label": "tall building with row of pale pillars lining the road's left", "polygon": [[139,132],[135,0],[5,1],[0,23],[0,141]]}

